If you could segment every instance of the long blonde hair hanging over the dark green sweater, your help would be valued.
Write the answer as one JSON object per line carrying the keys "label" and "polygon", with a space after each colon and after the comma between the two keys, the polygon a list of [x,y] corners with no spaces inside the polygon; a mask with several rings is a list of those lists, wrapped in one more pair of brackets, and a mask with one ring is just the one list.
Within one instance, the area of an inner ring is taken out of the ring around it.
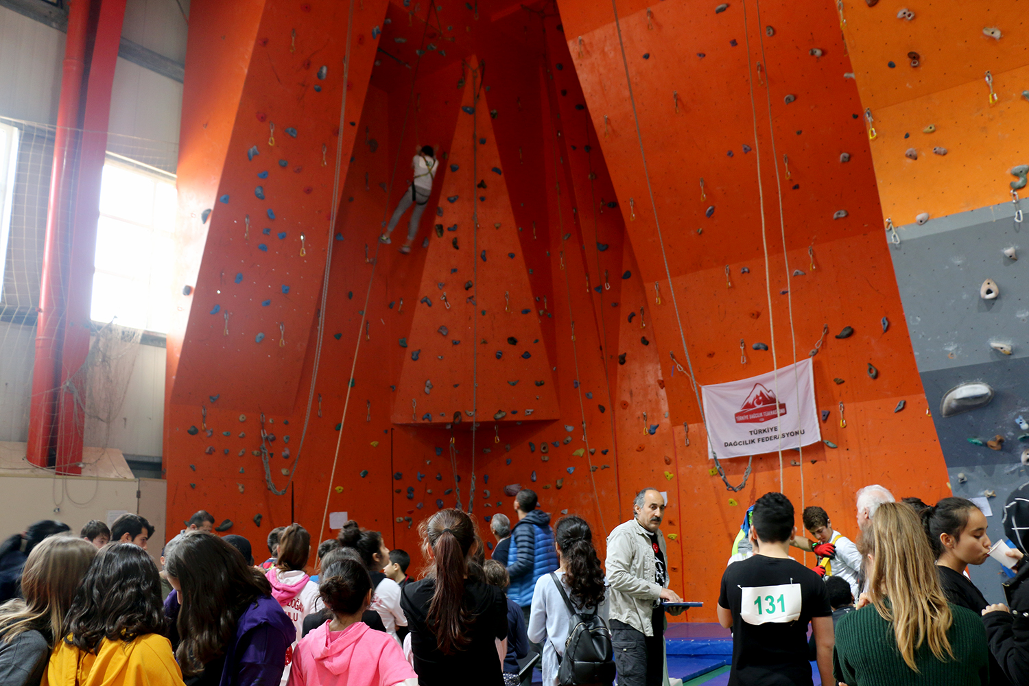
{"label": "long blonde hair hanging over the dark green sweater", "polygon": [[882,503],[861,541],[867,563],[868,598],[893,625],[897,649],[914,672],[923,644],[937,660],[954,658],[947,633],[954,622],[939,585],[935,555],[915,510],[903,503]]}

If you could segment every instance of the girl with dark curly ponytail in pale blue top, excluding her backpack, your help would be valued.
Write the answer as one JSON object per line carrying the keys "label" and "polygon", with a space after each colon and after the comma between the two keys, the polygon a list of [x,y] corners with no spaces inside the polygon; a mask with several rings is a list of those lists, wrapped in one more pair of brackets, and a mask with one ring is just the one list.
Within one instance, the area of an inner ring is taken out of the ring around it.
{"label": "girl with dark curly ponytail in pale blue top, excluding her backpack", "polygon": [[560,566],[553,574],[539,577],[529,613],[529,640],[543,644],[543,686],[557,686],[558,666],[568,640],[571,613],[557,582],[577,611],[598,613],[607,622],[604,572],[593,547],[593,532],[582,517],[561,517],[554,528],[554,544]]}

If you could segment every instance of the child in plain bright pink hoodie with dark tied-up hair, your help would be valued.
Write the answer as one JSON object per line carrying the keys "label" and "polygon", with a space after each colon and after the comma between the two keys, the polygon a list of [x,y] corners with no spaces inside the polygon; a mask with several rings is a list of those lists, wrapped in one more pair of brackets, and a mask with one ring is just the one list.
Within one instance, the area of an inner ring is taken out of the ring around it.
{"label": "child in plain bright pink hoodie with dark tied-up hair", "polygon": [[371,603],[371,577],[362,563],[327,566],[321,600],[331,618],[297,644],[289,686],[417,686],[397,642],[361,621]]}

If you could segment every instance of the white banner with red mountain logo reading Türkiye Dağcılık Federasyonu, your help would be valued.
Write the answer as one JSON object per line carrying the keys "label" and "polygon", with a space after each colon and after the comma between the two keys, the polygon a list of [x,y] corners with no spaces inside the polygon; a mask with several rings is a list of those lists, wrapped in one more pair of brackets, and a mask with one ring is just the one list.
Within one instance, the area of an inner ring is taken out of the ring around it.
{"label": "white banner with red mountain logo reading T\u00fcrkiye Da\u011fc\u0131l\u0131k Federasyonu", "polygon": [[708,449],[718,458],[775,453],[822,439],[811,358],[778,372],[703,386],[701,391]]}

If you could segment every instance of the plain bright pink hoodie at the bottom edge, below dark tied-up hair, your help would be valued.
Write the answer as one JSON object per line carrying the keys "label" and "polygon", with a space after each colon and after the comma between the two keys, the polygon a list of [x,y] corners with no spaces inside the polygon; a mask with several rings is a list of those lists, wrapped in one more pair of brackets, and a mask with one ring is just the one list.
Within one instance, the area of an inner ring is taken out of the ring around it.
{"label": "plain bright pink hoodie at the bottom edge, below dark tied-up hair", "polygon": [[342,631],[325,622],[293,650],[289,686],[395,686],[417,679],[389,634],[354,622]]}

